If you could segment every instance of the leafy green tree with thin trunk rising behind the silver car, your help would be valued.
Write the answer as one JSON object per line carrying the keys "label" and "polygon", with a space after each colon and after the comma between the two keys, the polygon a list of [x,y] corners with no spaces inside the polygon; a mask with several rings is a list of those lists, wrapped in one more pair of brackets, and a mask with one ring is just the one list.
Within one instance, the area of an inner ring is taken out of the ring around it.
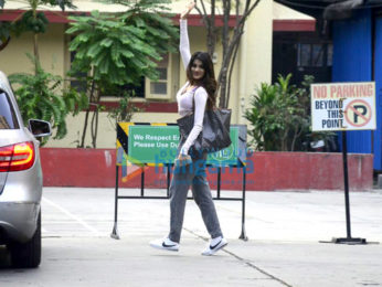
{"label": "leafy green tree with thin trunk rising behind the silver car", "polygon": [[[4,0],[0,1],[3,9]],[[39,118],[51,121],[56,128],[55,139],[62,139],[66,130],[66,116],[76,115],[82,108],[87,107],[87,98],[84,94],[72,88],[64,87],[64,78],[46,73],[40,64],[39,35],[46,31],[49,21],[44,12],[39,9],[59,6],[61,10],[65,7],[74,8],[72,0],[20,0],[28,8],[11,23],[1,23],[0,40],[3,46],[9,42],[11,33],[20,35],[25,32],[33,33],[33,55],[26,54],[33,66],[33,74],[19,73],[10,75],[12,84],[17,84],[14,94],[20,111],[25,120]],[[1,49],[1,47],[0,47]],[[42,144],[45,144],[43,141]]]}

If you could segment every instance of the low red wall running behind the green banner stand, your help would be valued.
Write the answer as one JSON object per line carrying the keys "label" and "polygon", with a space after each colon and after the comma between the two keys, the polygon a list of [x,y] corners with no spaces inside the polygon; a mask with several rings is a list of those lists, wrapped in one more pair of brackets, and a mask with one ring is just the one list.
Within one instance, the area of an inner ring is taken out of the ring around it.
{"label": "low red wall running behind the green banner stand", "polygon": [[[41,161],[45,187],[115,187],[114,149],[42,148]],[[337,190],[343,189],[342,155],[320,152],[255,152],[247,159],[246,190]],[[351,190],[372,189],[372,155],[348,156]],[[253,169],[251,168],[253,167]],[[121,188],[140,188],[139,168]],[[208,169],[212,189],[216,188],[215,169]],[[241,190],[242,172],[226,168],[222,189]],[[162,168],[146,168],[146,188],[166,188]]]}

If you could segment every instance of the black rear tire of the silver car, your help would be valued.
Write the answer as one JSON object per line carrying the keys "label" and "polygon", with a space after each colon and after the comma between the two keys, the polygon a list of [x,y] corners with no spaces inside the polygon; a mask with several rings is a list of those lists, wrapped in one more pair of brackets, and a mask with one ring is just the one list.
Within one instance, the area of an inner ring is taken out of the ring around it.
{"label": "black rear tire of the silver car", "polygon": [[25,243],[12,243],[9,245],[12,267],[35,268],[41,262],[41,211],[38,219],[38,227],[33,237]]}

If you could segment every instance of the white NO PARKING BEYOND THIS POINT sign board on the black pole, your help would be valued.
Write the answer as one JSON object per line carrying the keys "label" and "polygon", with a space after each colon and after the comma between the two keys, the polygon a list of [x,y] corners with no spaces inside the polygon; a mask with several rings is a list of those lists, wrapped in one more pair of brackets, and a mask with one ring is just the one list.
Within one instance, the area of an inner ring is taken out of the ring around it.
{"label": "white NO PARKING BEYOND THIS POINT sign board on the black pole", "polygon": [[314,131],[376,128],[374,82],[314,84],[310,95]]}

